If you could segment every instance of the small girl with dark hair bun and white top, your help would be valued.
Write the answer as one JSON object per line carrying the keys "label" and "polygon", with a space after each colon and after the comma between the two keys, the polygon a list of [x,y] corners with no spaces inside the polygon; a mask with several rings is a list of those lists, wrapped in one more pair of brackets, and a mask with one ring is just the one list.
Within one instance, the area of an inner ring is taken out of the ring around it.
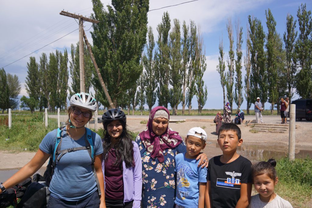
{"label": "small girl with dark hair bun and white top", "polygon": [[252,178],[259,194],[251,196],[249,208],[292,208],[291,204],[274,193],[278,182],[275,171],[276,161],[269,159],[252,166]]}

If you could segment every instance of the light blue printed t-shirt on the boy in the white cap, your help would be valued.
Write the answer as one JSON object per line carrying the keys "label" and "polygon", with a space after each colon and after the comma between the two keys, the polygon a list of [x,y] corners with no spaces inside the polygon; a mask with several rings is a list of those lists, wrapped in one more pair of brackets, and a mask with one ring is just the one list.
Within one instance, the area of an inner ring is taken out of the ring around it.
{"label": "light blue printed t-shirt on the boy in the white cap", "polygon": [[188,159],[185,153],[175,157],[177,172],[177,195],[174,201],[183,207],[198,207],[199,182],[207,182],[207,168],[197,167],[196,159]]}

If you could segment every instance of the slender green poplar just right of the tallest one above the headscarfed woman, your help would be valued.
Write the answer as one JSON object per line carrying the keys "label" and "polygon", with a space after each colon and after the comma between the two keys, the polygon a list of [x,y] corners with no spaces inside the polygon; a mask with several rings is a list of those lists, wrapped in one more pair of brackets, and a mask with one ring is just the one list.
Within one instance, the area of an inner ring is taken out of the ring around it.
{"label": "slender green poplar just right of the tallest one above the headscarfed woman", "polygon": [[170,104],[173,109],[173,115],[177,115],[178,104],[182,100],[182,84],[183,84],[183,68],[181,54],[181,31],[180,22],[178,19],[173,20],[173,28],[170,32],[170,60],[169,60],[169,84],[170,89]]}

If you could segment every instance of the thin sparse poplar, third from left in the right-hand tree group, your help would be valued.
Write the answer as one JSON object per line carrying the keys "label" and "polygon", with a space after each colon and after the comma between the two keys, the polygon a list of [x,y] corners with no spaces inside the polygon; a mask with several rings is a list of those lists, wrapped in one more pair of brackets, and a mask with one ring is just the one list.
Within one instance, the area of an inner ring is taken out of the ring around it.
{"label": "thin sparse poplar, third from left in the right-hand tree group", "polygon": [[235,71],[236,71],[236,82],[235,82],[235,94],[234,101],[238,108],[241,108],[241,104],[244,101],[243,97],[243,82],[241,76],[241,58],[243,53],[241,51],[241,45],[243,43],[243,27],[239,27],[239,22],[236,22],[236,60],[235,60]]}

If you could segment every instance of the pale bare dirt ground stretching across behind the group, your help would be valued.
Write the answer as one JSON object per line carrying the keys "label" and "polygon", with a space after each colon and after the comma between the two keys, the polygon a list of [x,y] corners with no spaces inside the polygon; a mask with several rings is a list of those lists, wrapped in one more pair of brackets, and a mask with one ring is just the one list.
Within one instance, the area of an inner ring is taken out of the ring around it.
{"label": "pale bare dirt ground stretching across behind the group", "polygon": [[[279,121],[279,117],[273,117],[270,120],[272,123]],[[312,122],[296,122],[296,153],[300,152],[305,154],[310,154],[312,156]],[[146,124],[141,124],[140,120],[127,121],[128,129],[133,132],[141,132],[146,128]],[[212,122],[197,122],[189,121],[182,123],[169,123],[169,127],[173,130],[179,132],[181,137],[184,139],[188,130],[192,127],[202,127],[208,134],[207,146],[204,152],[208,157],[213,157],[215,155],[222,154],[220,148],[217,145],[217,135],[215,134],[216,127]],[[288,136],[289,132],[286,133],[266,133],[258,132],[251,133],[249,130],[250,126],[242,125],[240,126],[243,138],[243,145],[238,152],[243,156],[252,160],[257,160],[257,157],[274,157],[276,152],[279,155],[287,155],[288,152]],[[300,154],[301,154],[300,153]],[[0,151],[0,170],[12,169],[23,167],[27,162],[29,162],[35,155],[35,152],[19,152],[10,153],[7,151]],[[47,165],[47,162],[44,166]]]}

